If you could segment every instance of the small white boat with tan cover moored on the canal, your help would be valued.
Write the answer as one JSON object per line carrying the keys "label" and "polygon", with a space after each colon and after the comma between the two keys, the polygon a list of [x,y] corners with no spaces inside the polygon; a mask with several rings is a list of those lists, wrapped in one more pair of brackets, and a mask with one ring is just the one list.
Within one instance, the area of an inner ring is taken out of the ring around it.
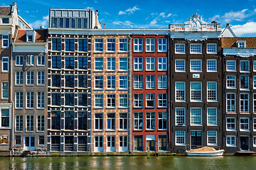
{"label": "small white boat with tan cover moored on the canal", "polygon": [[222,156],[224,149],[216,150],[213,147],[201,147],[198,149],[191,149],[186,151],[187,156],[196,156],[196,157],[215,157]]}

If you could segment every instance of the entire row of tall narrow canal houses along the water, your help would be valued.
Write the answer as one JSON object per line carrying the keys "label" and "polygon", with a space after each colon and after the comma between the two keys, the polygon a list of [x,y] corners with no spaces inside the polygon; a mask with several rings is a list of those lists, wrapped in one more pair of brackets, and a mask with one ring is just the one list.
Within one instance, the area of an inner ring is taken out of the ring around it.
{"label": "entire row of tall narrow canal houses along the water", "polygon": [[48,29],[10,33],[3,151],[255,150],[255,38],[196,13],[169,29],[102,29],[97,11],[66,8],[50,8]]}

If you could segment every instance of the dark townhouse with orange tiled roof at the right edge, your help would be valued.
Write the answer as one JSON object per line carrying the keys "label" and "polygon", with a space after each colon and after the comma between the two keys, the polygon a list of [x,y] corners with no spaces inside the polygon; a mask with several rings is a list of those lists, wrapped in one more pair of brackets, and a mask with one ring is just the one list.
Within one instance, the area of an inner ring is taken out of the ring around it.
{"label": "dark townhouse with orange tiled roof at the right edge", "polygon": [[256,151],[256,38],[223,37],[223,146]]}

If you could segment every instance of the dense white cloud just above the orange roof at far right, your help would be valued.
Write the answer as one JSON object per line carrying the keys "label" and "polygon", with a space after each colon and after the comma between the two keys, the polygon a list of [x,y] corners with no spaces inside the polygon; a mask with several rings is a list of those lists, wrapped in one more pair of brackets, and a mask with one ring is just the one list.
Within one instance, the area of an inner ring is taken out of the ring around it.
{"label": "dense white cloud just above the orange roof at far right", "polygon": [[237,36],[256,33],[256,22],[248,22],[243,25],[232,26],[231,29]]}

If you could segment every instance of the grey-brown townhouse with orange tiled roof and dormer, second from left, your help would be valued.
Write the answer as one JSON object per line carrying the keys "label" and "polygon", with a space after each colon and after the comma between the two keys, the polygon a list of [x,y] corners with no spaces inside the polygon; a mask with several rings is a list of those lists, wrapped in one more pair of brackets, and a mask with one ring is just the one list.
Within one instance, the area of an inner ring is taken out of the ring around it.
{"label": "grey-brown townhouse with orange tiled roof and dormer, second from left", "polygon": [[12,46],[14,154],[46,154],[47,30],[18,30]]}

